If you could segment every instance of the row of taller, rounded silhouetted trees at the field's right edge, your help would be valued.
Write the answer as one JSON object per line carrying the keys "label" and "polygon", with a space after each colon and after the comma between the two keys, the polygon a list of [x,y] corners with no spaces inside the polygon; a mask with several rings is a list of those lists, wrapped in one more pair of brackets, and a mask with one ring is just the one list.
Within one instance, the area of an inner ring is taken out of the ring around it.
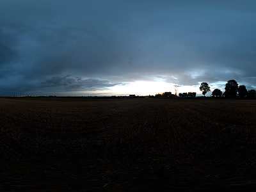
{"label": "row of taller, rounded silhouetted trees at the field's right edge", "polygon": [[[205,96],[207,92],[211,92],[210,86],[208,83],[201,83],[200,91]],[[232,79],[227,82],[225,85],[225,92],[222,93],[221,90],[215,89],[212,92],[212,97],[225,97],[225,98],[239,98],[239,99],[255,99],[256,98],[256,91],[249,90],[247,91],[246,86],[239,85],[237,82]]]}

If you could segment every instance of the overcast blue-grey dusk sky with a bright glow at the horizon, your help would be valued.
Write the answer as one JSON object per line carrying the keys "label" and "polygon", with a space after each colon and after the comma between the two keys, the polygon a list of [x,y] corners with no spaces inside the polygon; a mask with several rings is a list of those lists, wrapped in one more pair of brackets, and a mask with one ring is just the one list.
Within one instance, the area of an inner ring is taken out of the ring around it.
{"label": "overcast blue-grey dusk sky with a bright glow at the horizon", "polygon": [[255,0],[0,1],[1,96],[230,79],[256,89]]}

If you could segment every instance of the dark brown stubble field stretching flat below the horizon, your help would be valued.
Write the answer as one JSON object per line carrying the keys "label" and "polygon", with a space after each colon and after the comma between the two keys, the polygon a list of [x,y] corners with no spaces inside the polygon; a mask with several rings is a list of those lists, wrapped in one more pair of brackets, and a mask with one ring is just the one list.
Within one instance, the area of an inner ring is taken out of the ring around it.
{"label": "dark brown stubble field stretching flat below the horizon", "polygon": [[0,98],[0,189],[256,186],[256,101]]}

